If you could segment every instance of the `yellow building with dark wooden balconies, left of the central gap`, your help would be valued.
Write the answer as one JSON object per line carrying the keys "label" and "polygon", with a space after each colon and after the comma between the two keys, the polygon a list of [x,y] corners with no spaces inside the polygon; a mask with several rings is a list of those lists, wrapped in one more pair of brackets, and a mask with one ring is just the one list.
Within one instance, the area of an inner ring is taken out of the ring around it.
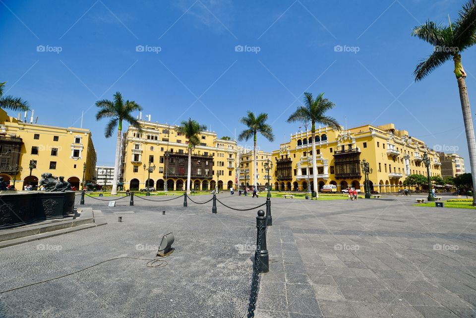
{"label": "yellow building with dark wooden balconies, left of the central gap", "polygon": [[[167,124],[139,121],[142,133],[129,127],[122,142],[119,180],[124,189],[154,187],[156,190],[186,190],[188,139]],[[192,150],[192,189],[236,189],[238,147],[215,132],[202,131],[200,145]],[[148,167],[155,166],[148,179]]]}

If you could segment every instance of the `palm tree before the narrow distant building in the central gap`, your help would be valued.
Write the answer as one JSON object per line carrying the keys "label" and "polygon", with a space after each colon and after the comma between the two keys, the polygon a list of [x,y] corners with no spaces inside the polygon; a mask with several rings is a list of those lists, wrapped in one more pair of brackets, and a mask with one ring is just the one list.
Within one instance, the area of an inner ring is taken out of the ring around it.
{"label": "palm tree before the narrow distant building in the central gap", "polygon": [[[254,163],[254,168],[253,168],[253,186],[254,189],[257,191],[258,188],[256,187],[256,169],[257,169],[257,162],[256,162],[256,135],[261,133],[266,139],[269,141],[273,142],[274,141],[274,134],[273,134],[273,128],[269,124],[266,124],[266,121],[268,120],[268,114],[261,113],[257,117],[250,111],[248,111],[247,116],[241,118],[239,121],[241,124],[245,125],[248,127],[247,129],[244,129],[243,131],[240,132],[238,135],[238,140],[248,140],[253,137],[253,142],[254,142],[254,147],[253,147],[253,163]],[[268,185],[269,187],[270,185]]]}

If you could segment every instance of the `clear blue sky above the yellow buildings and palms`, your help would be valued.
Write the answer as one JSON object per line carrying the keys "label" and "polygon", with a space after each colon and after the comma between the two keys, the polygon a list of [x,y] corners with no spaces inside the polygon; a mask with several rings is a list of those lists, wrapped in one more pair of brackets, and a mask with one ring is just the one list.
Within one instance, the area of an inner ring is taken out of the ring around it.
{"label": "clear blue sky above the yellow buildings and palms", "polygon": [[[346,117],[348,127],[395,123],[460,153],[469,170],[453,65],[416,83],[413,70],[433,48],[410,36],[427,19],[447,23],[463,3],[0,0],[0,80],[30,102],[39,124],[79,127],[83,111],[100,165],[113,165],[116,144],[94,103],[116,91],[153,122],[191,117],[219,136],[238,134],[247,110],[266,112],[276,135],[258,137],[267,151],[297,131],[286,119],[309,91],[325,92],[342,125]],[[473,104],[475,50],[463,54]]]}

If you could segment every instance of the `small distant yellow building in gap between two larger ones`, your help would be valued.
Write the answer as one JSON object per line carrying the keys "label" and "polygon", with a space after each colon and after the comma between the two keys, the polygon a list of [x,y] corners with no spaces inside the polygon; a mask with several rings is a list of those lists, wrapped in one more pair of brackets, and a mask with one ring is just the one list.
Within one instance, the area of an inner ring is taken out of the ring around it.
{"label": "small distant yellow building in gap between two larger ones", "polygon": [[[239,155],[239,186],[243,189],[244,186],[253,186],[254,185],[254,160],[253,160],[253,150],[245,150],[240,148]],[[271,153],[258,150],[256,152],[256,185],[259,190],[264,190],[268,186],[268,174],[264,169],[264,163],[267,160],[271,160]],[[270,179],[273,179],[272,171],[269,171]]]}

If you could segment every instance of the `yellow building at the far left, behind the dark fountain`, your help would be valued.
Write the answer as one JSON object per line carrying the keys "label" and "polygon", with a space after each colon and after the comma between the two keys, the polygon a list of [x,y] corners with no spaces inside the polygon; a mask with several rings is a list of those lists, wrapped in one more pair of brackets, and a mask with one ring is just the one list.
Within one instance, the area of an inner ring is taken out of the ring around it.
{"label": "yellow building at the far left, behind the dark fountain", "polygon": [[[30,162],[36,165],[31,170]],[[86,171],[83,165],[86,164]],[[96,151],[89,129],[54,127],[10,117],[0,109],[0,177],[17,190],[38,185],[41,174],[64,177],[77,189],[94,178]]]}

